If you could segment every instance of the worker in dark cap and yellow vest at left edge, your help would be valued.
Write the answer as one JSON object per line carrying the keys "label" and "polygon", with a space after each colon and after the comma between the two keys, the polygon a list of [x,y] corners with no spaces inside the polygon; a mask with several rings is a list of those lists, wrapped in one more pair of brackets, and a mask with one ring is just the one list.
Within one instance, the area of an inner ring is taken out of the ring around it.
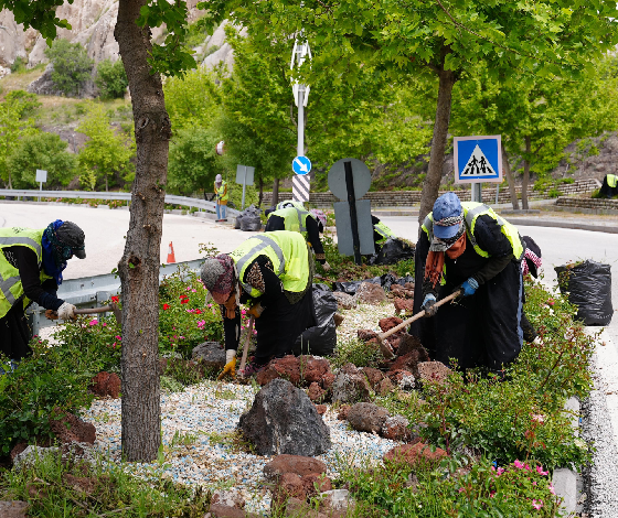
{"label": "worker in dark cap and yellow vest at left edge", "polygon": [[62,320],[75,306],[56,296],[62,271],[73,256],[84,259],[84,231],[56,219],[47,228],[0,228],[0,349],[19,361],[31,353],[25,309],[36,302]]}

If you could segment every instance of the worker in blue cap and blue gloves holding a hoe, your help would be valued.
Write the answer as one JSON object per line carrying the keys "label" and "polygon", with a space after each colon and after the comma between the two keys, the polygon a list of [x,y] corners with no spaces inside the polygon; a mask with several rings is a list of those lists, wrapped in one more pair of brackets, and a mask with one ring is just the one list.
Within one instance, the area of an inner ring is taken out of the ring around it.
{"label": "worker in blue cap and blue gloves holding a hoe", "polygon": [[[516,228],[489,206],[461,203],[455,193],[436,199],[416,245],[414,311],[428,319],[411,328],[434,359],[499,371],[518,357],[523,252]],[[456,290],[456,303],[434,307]]]}

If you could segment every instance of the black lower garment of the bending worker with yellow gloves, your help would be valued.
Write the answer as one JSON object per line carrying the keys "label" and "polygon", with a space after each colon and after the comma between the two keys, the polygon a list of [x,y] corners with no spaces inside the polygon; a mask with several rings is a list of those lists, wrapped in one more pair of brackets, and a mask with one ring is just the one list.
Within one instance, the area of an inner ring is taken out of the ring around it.
{"label": "black lower garment of the bending worker with yellow gloves", "polygon": [[281,293],[275,303],[270,303],[262,316],[255,320],[255,361],[265,364],[271,358],[291,354],[296,338],[315,325],[311,287],[296,304],[290,304],[285,293]]}

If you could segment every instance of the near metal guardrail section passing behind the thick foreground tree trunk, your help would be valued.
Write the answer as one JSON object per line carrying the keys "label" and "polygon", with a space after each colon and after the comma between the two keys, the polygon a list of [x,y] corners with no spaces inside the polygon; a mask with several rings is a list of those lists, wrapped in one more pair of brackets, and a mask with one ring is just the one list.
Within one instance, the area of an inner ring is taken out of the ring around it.
{"label": "near metal guardrail section passing behind the thick foreground tree trunk", "polygon": [[[177,267],[199,271],[202,262],[204,262],[203,259],[194,259],[163,265],[164,268],[159,270],[159,282],[163,280],[163,277],[175,272]],[[120,293],[120,278],[115,273],[106,273],[64,280],[58,287],[57,298],[78,307],[99,307],[109,301],[111,295],[118,293]],[[42,327],[55,324],[55,321],[45,317],[45,309],[36,303],[30,305],[26,314],[35,335]]]}

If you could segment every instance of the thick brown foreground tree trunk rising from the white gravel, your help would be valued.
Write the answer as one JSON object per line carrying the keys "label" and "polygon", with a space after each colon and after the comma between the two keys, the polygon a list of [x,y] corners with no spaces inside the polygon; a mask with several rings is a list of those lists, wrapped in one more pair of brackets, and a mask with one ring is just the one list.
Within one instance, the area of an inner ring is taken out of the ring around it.
{"label": "thick brown foreground tree trunk rising from the white gravel", "polygon": [[122,455],[157,458],[160,435],[159,265],[171,125],[163,88],[151,74],[149,28],[136,19],[148,0],[120,0],[114,35],[129,79],[137,143],[136,177],[125,252],[122,287]]}

